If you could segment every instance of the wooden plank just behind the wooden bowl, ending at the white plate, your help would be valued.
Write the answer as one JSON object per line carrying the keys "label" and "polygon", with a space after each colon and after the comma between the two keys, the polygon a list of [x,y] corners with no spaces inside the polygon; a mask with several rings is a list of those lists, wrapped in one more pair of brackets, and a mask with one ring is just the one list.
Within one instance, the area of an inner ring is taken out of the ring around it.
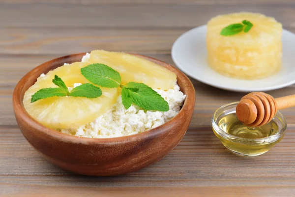
{"label": "wooden plank just behind the wooden bowl, ending at the white plate", "polygon": [[0,54],[63,55],[94,49],[170,54],[173,42],[182,33],[183,30],[4,28],[0,30]]}

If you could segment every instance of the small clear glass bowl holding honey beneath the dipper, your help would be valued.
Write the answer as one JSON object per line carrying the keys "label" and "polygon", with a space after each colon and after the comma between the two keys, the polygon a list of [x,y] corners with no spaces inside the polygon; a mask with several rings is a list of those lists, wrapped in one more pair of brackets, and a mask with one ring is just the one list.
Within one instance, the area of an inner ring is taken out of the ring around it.
{"label": "small clear glass bowl holding honey beneath the dipper", "polygon": [[285,135],[287,122],[284,116],[278,111],[271,122],[277,125],[278,131],[263,138],[243,138],[229,134],[219,127],[220,120],[229,115],[236,115],[238,102],[229,103],[217,109],[212,117],[212,129],[221,143],[232,152],[241,156],[258,156],[269,151]]}

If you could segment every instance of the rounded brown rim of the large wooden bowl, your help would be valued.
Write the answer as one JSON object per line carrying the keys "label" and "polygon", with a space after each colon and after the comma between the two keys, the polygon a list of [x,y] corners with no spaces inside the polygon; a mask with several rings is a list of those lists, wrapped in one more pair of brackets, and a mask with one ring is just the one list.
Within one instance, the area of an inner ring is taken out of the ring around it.
{"label": "rounded brown rim of the large wooden bowl", "polygon": [[[169,128],[172,128],[175,125],[173,120],[180,118],[182,116],[185,116],[186,111],[194,109],[195,89],[194,89],[192,82],[179,69],[177,69],[176,67],[174,67],[168,63],[165,63],[165,62],[160,61],[158,59],[151,58],[151,57],[144,56],[144,55],[133,54],[133,53],[129,53],[129,54],[145,58],[149,61],[153,60],[155,62],[161,63],[177,75],[177,81],[178,80],[185,81],[186,85],[183,87],[180,87],[180,89],[182,89],[182,92],[186,93],[186,98],[183,102],[183,105],[182,105],[180,111],[177,113],[177,115],[175,117],[173,117],[172,119],[170,119],[169,121],[167,121],[166,123],[164,123],[163,125],[160,125],[156,128],[153,128],[153,129],[145,131],[145,132],[140,132],[140,133],[136,133],[136,134],[132,134],[132,135],[126,135],[126,136],[120,136],[120,137],[109,137],[109,138],[90,138],[90,137],[81,137],[81,136],[75,136],[75,135],[70,135],[70,134],[65,134],[65,133],[59,132],[59,131],[50,129],[48,127],[45,127],[42,124],[40,124],[39,122],[37,122],[35,119],[33,119],[26,111],[26,109],[23,105],[23,100],[22,100],[24,93],[27,91],[27,90],[23,91],[26,81],[29,78],[32,78],[33,73],[35,74],[37,72],[38,73],[37,76],[39,76],[41,73],[44,73],[42,71],[46,70],[46,67],[52,65],[55,62],[62,62],[63,60],[67,60],[68,58],[72,58],[72,59],[74,59],[74,61],[81,61],[82,56],[86,55],[86,53],[77,53],[77,54],[71,54],[71,55],[55,58],[53,60],[47,61],[45,63],[42,63],[39,66],[34,67],[26,75],[24,75],[20,79],[20,81],[17,83],[17,85],[15,86],[14,91],[13,91],[12,102],[13,102],[13,110],[14,110],[15,116],[18,115],[18,117],[21,118],[21,120],[25,124],[30,125],[31,128],[34,128],[35,130],[42,132],[45,135],[51,136],[53,138],[59,138],[62,141],[75,142],[75,143],[86,143],[86,144],[89,144],[89,143],[107,143],[107,144],[109,144],[109,143],[118,143],[118,142],[123,142],[123,141],[137,141],[139,138],[152,139],[155,136],[162,134],[164,131],[170,130]],[[63,63],[66,63],[66,62],[63,62]],[[62,66],[63,63],[61,63],[60,66]],[[46,64],[47,64],[47,66],[44,66]],[[155,64],[157,64],[157,63],[155,63]],[[163,66],[163,65],[160,65],[160,66]],[[36,80],[37,80],[37,78],[35,79],[35,81]],[[177,84],[179,84],[179,83],[177,83]],[[22,95],[22,92],[23,92],[23,95]],[[18,125],[19,125],[19,123],[18,123]],[[165,128],[165,130],[164,130],[164,128]]]}

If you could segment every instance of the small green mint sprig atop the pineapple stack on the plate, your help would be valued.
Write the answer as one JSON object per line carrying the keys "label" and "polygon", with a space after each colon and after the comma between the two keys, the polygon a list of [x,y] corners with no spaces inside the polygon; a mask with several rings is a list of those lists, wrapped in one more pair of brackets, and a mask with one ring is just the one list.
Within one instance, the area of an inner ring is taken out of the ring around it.
{"label": "small green mint sprig atop the pineapple stack on the plate", "polygon": [[251,30],[252,27],[253,27],[253,24],[250,21],[243,20],[242,23],[231,24],[223,28],[220,34],[225,36],[230,36],[230,35],[235,35],[237,33],[240,33],[242,31],[247,33]]}

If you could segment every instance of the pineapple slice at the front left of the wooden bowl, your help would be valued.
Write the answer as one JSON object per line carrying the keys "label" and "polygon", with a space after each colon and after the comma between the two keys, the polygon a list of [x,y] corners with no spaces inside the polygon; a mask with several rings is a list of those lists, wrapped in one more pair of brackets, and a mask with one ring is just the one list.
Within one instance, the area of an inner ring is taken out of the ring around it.
{"label": "pineapple slice at the front left of the wooden bowl", "polygon": [[76,62],[60,66],[49,71],[45,77],[39,77],[25,93],[24,106],[29,115],[46,127],[69,129],[85,125],[109,110],[120,94],[118,88],[101,88],[102,96],[96,99],[81,97],[52,97],[31,103],[31,96],[42,88],[57,87],[52,83],[58,75],[68,87],[74,83],[89,83],[80,69],[89,63]]}

